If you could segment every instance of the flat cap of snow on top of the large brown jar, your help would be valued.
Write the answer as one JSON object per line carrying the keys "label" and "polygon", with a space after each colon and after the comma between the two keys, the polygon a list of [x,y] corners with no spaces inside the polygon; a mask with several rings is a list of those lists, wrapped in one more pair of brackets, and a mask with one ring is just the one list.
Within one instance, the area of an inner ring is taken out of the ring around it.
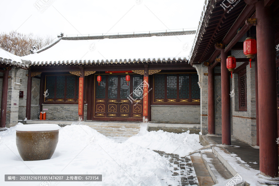
{"label": "flat cap of snow on top of the large brown jar", "polygon": [[56,124],[25,124],[16,126],[16,131],[56,131],[60,126]]}

